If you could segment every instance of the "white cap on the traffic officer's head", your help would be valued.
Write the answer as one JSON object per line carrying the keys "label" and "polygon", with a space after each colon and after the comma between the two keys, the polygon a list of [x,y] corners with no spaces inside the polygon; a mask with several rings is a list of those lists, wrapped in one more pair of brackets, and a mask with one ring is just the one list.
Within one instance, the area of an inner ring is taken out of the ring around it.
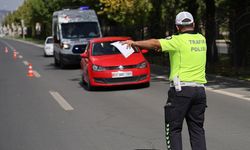
{"label": "white cap on the traffic officer's head", "polygon": [[175,24],[176,25],[190,25],[194,22],[194,18],[191,13],[187,11],[182,11],[176,15]]}

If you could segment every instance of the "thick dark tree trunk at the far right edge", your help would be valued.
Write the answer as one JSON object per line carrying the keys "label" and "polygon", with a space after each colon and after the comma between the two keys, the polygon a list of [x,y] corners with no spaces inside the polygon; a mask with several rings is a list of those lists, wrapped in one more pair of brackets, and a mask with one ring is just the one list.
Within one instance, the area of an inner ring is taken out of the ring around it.
{"label": "thick dark tree trunk at the far right edge", "polygon": [[230,0],[230,39],[232,43],[232,63],[236,68],[250,66],[250,44],[246,42],[250,36],[250,2],[240,3]]}

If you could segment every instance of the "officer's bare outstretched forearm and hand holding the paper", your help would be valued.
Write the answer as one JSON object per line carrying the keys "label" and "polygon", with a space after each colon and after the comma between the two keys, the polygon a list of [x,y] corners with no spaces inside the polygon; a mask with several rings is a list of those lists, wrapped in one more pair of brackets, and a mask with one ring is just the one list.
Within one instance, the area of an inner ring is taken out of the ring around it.
{"label": "officer's bare outstretched forearm and hand holding the paper", "polygon": [[157,39],[149,39],[149,40],[143,40],[143,41],[133,41],[133,40],[127,40],[123,41],[123,44],[127,44],[128,46],[138,46],[140,48],[145,48],[145,49],[160,49],[161,44],[159,40]]}

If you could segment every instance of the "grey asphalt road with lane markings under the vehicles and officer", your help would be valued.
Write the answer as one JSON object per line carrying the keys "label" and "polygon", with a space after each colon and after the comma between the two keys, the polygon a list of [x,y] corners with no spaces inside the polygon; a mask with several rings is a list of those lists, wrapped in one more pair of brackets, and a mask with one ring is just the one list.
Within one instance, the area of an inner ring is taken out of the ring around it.
{"label": "grey asphalt road with lane markings under the vehicles and officer", "polygon": [[[29,63],[35,77],[27,76]],[[0,150],[166,149],[163,106],[169,85],[156,66],[149,88],[89,92],[79,67],[61,70],[53,57],[43,57],[42,48],[0,39],[0,69]],[[249,90],[246,83],[209,78],[209,150],[249,150]],[[191,149],[186,125],[183,145]]]}

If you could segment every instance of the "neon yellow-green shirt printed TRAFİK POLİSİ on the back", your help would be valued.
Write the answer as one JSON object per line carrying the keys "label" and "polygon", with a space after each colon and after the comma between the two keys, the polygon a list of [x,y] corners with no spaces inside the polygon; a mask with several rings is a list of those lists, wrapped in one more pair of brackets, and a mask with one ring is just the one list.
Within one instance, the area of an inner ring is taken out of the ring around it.
{"label": "neon yellow-green shirt printed TRAF\u0130K POL\u0130S\u0130 on the back", "polygon": [[179,76],[182,82],[207,83],[206,39],[196,33],[181,33],[166,39],[159,39],[163,52],[169,52],[170,77]]}

